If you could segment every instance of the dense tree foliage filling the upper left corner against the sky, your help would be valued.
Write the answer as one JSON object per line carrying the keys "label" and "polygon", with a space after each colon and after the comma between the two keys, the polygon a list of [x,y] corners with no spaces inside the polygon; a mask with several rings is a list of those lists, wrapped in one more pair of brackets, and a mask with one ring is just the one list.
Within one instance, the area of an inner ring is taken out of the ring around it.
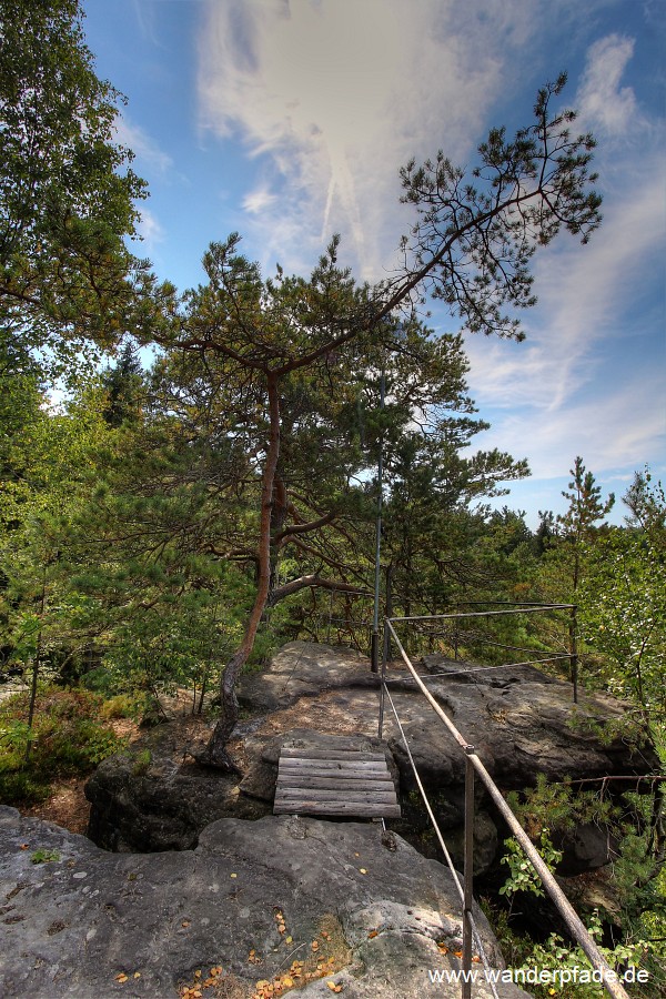
{"label": "dense tree foliage filling the upper left corner against the sky", "polygon": [[114,142],[123,98],[95,75],[81,18],[79,0],[0,12],[1,325],[70,381],[84,344],[144,330],[172,294],[124,243],[144,182]]}

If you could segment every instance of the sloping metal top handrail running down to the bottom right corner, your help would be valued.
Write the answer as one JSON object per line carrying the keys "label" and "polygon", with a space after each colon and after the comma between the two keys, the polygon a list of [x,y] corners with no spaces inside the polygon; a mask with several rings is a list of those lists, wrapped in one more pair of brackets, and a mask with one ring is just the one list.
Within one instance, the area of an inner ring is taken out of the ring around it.
{"label": "sloping metal top handrail running down to the bottom right corner", "polygon": [[[556,606],[556,605],[549,605],[549,607],[553,607],[553,606]],[[567,606],[567,605],[562,605],[562,606]],[[511,613],[511,612],[508,612],[508,610],[504,610],[504,612],[503,610],[491,610],[491,612],[488,612],[488,614],[508,614],[508,613]],[[434,615],[423,615],[423,616],[424,617],[433,617]],[[602,980],[603,980],[603,985],[604,985],[604,988],[606,989],[606,991],[609,992],[614,997],[614,999],[628,999],[627,992],[625,991],[623,986],[617,981],[617,976],[615,975],[614,970],[610,968],[610,966],[606,961],[605,957],[601,952],[601,950],[597,947],[597,945],[595,944],[595,941],[589,936],[585,925],[581,920],[581,917],[578,916],[578,914],[575,911],[575,909],[571,905],[569,900],[567,899],[567,897],[563,892],[562,888],[559,887],[559,885],[553,877],[552,872],[548,870],[546,864],[542,859],[538,850],[534,847],[532,840],[529,839],[529,837],[527,836],[527,834],[525,833],[525,830],[523,829],[523,827],[516,819],[515,815],[513,814],[513,811],[511,810],[511,808],[508,807],[508,805],[502,797],[500,788],[497,787],[497,785],[495,784],[495,781],[493,780],[493,778],[486,770],[483,761],[480,759],[478,755],[476,754],[474,746],[472,746],[472,744],[465,739],[465,737],[458,731],[456,726],[453,724],[451,718],[448,718],[448,716],[442,710],[442,708],[440,707],[440,705],[437,704],[437,702],[435,700],[435,698],[433,697],[431,692],[427,689],[427,687],[425,686],[425,684],[423,683],[423,680],[421,679],[421,677],[414,669],[414,666],[412,665],[412,662],[411,662],[408,655],[406,654],[405,649],[403,648],[402,642],[400,640],[400,638],[397,637],[397,635],[395,633],[395,628],[393,627],[393,622],[397,620],[397,619],[398,618],[389,618],[387,617],[387,618],[385,618],[385,622],[391,632],[391,635],[393,636],[395,644],[397,645],[397,648],[400,649],[400,654],[403,657],[403,660],[404,660],[407,669],[414,677],[416,685],[421,689],[421,693],[424,695],[424,697],[426,698],[426,700],[428,702],[431,707],[434,709],[434,712],[437,714],[440,719],[444,723],[444,725],[448,729],[450,734],[453,736],[453,738],[458,744],[461,749],[465,753],[466,758],[470,760],[471,765],[474,767],[474,769],[481,777],[488,794],[491,795],[491,798],[497,806],[502,817],[508,825],[511,831],[513,833],[513,835],[519,842],[521,847],[523,848],[523,851],[527,856],[527,859],[529,860],[529,862],[536,870],[537,875],[539,876],[542,884],[544,885],[544,888],[546,889],[546,891],[548,892],[548,895],[555,902],[555,906],[559,910],[562,918],[564,919],[567,928],[572,932],[572,936],[581,945],[583,951],[589,959],[593,967],[602,972]],[[410,618],[400,618],[400,620],[408,620],[408,619]],[[384,684],[384,686],[385,686],[385,684]]]}

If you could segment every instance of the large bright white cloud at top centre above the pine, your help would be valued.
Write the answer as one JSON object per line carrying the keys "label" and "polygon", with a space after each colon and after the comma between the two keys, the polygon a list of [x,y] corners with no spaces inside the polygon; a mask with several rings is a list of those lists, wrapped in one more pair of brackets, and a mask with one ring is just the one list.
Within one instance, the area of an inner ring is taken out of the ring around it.
{"label": "large bright white cloud at top centre above the pine", "polygon": [[[466,159],[513,47],[537,23],[521,0],[209,2],[200,121],[273,171],[278,196],[250,232],[266,256],[291,265],[341,231],[363,276],[380,276],[408,226],[398,168],[438,144]],[[295,245],[275,239],[286,216]]]}

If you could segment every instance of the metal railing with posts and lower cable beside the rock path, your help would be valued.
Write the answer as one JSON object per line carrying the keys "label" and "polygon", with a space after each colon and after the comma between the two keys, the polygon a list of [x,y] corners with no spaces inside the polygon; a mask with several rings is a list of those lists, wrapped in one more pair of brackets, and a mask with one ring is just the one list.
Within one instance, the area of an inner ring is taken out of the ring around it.
{"label": "metal railing with posts and lower cable beside the rock path", "polygon": [[[527,608],[524,605],[521,605],[521,606],[522,606],[523,613],[535,613],[537,609],[541,609],[541,610],[546,609],[546,605],[538,605],[538,608],[535,605],[533,605],[532,607],[527,607]],[[572,605],[567,605],[567,604],[547,605],[547,609],[569,609],[569,610],[573,609],[573,610],[575,610],[575,608],[573,608]],[[474,612],[474,613],[483,614],[483,612]],[[494,610],[494,612],[485,612],[485,613],[486,614],[502,614],[502,613],[512,613],[512,612]],[[426,698],[426,700],[428,702],[428,704],[431,705],[431,707],[433,708],[433,710],[435,712],[435,714],[437,715],[440,720],[446,726],[446,728],[448,729],[448,733],[451,734],[453,739],[457,743],[461,751],[465,756],[464,874],[463,874],[463,884],[462,885],[461,885],[461,880],[457,875],[457,871],[455,870],[453,861],[451,859],[451,855],[446,848],[446,844],[444,842],[444,838],[442,836],[442,833],[441,833],[437,821],[435,819],[433,809],[430,805],[430,801],[427,800],[425,789],[423,787],[423,784],[421,781],[421,778],[420,778],[416,767],[414,765],[414,760],[413,760],[412,753],[410,750],[410,747],[408,747],[408,744],[406,740],[404,729],[400,722],[400,717],[397,715],[395,705],[393,703],[391,693],[390,693],[387,684],[386,684],[386,665],[387,665],[387,647],[389,647],[389,642],[386,642],[386,640],[384,642],[384,656],[383,656],[382,672],[381,672],[381,706],[380,706],[379,735],[380,735],[380,738],[382,738],[383,723],[384,723],[384,699],[386,698],[389,700],[390,706],[395,716],[395,720],[396,720],[398,730],[401,733],[401,737],[404,741],[406,753],[407,753],[410,763],[412,765],[412,769],[413,769],[413,773],[414,773],[414,776],[416,779],[418,790],[424,800],[430,819],[433,824],[435,834],[438,838],[440,845],[444,852],[444,857],[446,858],[446,862],[451,869],[455,886],[456,886],[458,895],[461,897],[462,910],[463,910],[463,951],[462,951],[463,976],[462,976],[462,992],[461,992],[461,995],[462,995],[463,999],[471,999],[471,997],[472,997],[472,975],[471,975],[471,972],[472,972],[473,944],[475,945],[475,947],[478,951],[478,956],[481,957],[481,960],[484,965],[485,970],[486,971],[491,970],[488,962],[487,962],[486,955],[483,949],[481,934],[478,932],[478,929],[477,929],[475,920],[474,920],[474,914],[473,914],[473,908],[472,908],[473,907],[473,887],[474,887],[474,881],[473,881],[474,811],[475,811],[475,809],[474,809],[474,784],[475,784],[475,777],[478,777],[481,779],[482,784],[484,785],[484,787],[486,788],[487,793],[490,794],[497,810],[502,815],[504,821],[506,823],[506,825],[511,829],[513,836],[515,837],[515,839],[519,844],[521,848],[523,849],[523,852],[525,854],[525,856],[532,864],[533,868],[535,869],[536,874],[538,875],[546,892],[548,894],[548,896],[552,898],[553,902],[555,904],[555,906],[556,906],[562,919],[564,920],[568,931],[571,932],[572,937],[581,946],[583,952],[588,958],[593,968],[601,973],[602,982],[603,982],[606,991],[610,996],[615,997],[615,999],[628,999],[627,992],[625,991],[625,989],[623,988],[620,982],[617,980],[616,972],[613,970],[613,968],[610,968],[610,966],[606,961],[604,955],[599,950],[599,948],[596,945],[596,942],[594,941],[594,939],[588,934],[588,931],[587,931],[585,925],[582,922],[579,916],[576,914],[576,911],[572,907],[571,902],[564,895],[562,888],[559,887],[559,885],[553,877],[553,874],[551,872],[551,870],[548,869],[548,867],[542,859],[538,850],[535,848],[532,840],[529,839],[529,837],[527,836],[527,834],[525,833],[525,830],[518,823],[517,818],[515,817],[514,813],[511,810],[511,808],[504,800],[500,788],[497,787],[497,785],[495,784],[495,781],[493,780],[493,778],[486,770],[482,759],[478,757],[478,754],[476,753],[475,747],[471,743],[468,743],[467,739],[462,735],[462,733],[456,728],[456,726],[453,724],[451,718],[448,718],[448,716],[444,713],[444,710],[437,704],[437,702],[435,700],[435,698],[433,697],[433,695],[431,694],[431,692],[428,690],[426,685],[423,683],[423,679],[421,678],[421,676],[414,668],[414,665],[413,665],[412,660],[410,659],[410,656],[405,652],[404,646],[394,628],[394,624],[397,624],[398,622],[402,623],[405,620],[424,620],[426,618],[435,619],[438,617],[451,618],[454,615],[424,615],[420,618],[397,618],[397,617],[385,618],[385,629],[386,629],[386,634],[391,636],[391,638],[395,643],[397,649],[400,650],[401,657],[402,657],[403,662],[405,663],[408,672],[411,673],[414,683],[420,688],[421,693],[424,695],[424,697]],[[468,617],[470,615],[465,615],[465,616]],[[502,667],[494,667],[494,668],[502,668]],[[492,990],[493,995],[495,996],[495,999],[498,999],[497,991],[493,983],[492,977],[487,976],[486,978],[487,978],[487,983],[490,985],[491,990]]]}

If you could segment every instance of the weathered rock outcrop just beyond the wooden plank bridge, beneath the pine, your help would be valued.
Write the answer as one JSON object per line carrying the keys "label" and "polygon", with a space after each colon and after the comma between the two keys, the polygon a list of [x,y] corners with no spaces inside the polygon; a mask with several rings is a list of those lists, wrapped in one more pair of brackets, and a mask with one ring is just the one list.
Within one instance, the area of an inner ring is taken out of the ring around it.
{"label": "weathered rock outcrop just beyond the wooden plank bridge, beneath the pine", "polygon": [[[582,695],[574,705],[569,684],[534,667],[465,669],[465,664],[426,656],[421,664],[427,686],[503,789],[521,789],[539,774],[561,781],[607,775],[654,773],[657,757],[649,746],[627,745],[613,727],[624,705],[609,697]],[[389,687],[412,756],[456,862],[462,864],[464,756],[407,672],[393,665]],[[345,736],[350,748],[380,745],[400,777],[403,818],[392,828],[438,856],[430,834],[403,739],[386,704],[384,743],[377,743],[379,679],[367,659],[347,649],[291,642],[261,674],[243,677],[240,700],[255,713],[238,730],[235,744],[244,770],[240,785],[183,761],[186,745],[178,728],[160,726],[133,749],[133,757],[104,761],[89,783],[90,834],[112,849],[191,848],[215,818],[255,818],[272,809],[280,749],[286,739]],[[601,738],[604,730],[607,738]],[[173,731],[173,736],[169,733]],[[204,733],[205,735],[205,733]],[[150,753],[150,766],[137,774],[137,755]],[[478,787],[475,870],[493,864],[498,834],[496,817]],[[572,850],[572,870],[603,864],[607,854]],[[566,846],[566,845],[565,845]]]}

